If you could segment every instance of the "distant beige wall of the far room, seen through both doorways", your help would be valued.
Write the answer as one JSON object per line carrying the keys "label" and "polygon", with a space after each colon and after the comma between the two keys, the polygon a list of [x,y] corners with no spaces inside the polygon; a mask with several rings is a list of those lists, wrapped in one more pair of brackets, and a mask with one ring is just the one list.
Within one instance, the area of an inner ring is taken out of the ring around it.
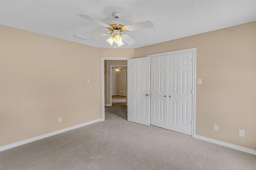
{"label": "distant beige wall of the far room, seen through both doorways", "polygon": [[116,73],[116,91],[117,95],[126,95],[126,69],[120,69],[118,73]]}

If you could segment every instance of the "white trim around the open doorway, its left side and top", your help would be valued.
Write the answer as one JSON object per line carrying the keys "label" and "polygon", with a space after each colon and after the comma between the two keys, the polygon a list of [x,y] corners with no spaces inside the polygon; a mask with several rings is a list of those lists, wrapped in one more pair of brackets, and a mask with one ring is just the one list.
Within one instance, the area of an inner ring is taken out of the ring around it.
{"label": "white trim around the open doorway, its left side and top", "polygon": [[104,60],[128,60],[130,57],[101,57],[101,101],[102,101],[102,121],[105,121],[105,80],[104,80]]}

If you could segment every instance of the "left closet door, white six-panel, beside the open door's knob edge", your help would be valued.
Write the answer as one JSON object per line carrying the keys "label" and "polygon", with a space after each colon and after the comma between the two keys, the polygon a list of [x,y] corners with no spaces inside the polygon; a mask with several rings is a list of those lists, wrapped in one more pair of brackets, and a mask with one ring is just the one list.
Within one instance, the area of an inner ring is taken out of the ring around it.
{"label": "left closet door, white six-panel, beside the open door's knob edge", "polygon": [[168,126],[168,55],[150,57],[150,125]]}

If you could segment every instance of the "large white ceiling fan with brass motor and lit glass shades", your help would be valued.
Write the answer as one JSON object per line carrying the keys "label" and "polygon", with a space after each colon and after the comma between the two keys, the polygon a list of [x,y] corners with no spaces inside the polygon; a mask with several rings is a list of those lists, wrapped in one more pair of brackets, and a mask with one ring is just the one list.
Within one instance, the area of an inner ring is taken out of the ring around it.
{"label": "large white ceiling fan with brass motor and lit glass shades", "polygon": [[101,22],[101,21],[99,21],[95,18],[92,18],[88,15],[85,15],[85,14],[79,15],[80,17],[85,18],[86,20],[90,20],[96,24],[99,24],[101,26],[108,28],[108,30],[110,31],[110,32],[107,32],[100,36],[91,38],[90,40],[98,40],[100,38],[104,38],[109,35],[113,35],[109,39],[106,40],[108,43],[110,43],[110,45],[112,45],[114,42],[116,44],[118,44],[118,47],[121,45],[124,45],[122,40],[124,40],[124,42],[126,42],[128,45],[132,45],[135,43],[135,41],[124,32],[154,27],[154,24],[150,21],[140,22],[137,24],[131,24],[131,25],[125,26],[124,22],[117,20],[119,18],[119,16],[121,15],[120,12],[113,12],[112,15],[116,18],[116,20],[112,20],[112,21],[108,22],[108,24],[105,24],[104,22]]}

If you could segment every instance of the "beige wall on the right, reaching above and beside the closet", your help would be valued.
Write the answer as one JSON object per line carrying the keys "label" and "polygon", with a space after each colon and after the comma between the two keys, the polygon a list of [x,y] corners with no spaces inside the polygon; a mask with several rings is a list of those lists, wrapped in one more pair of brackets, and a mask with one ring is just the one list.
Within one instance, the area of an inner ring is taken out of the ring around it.
{"label": "beige wall on the right, reaching above and beside the closet", "polygon": [[134,56],[192,47],[196,78],[202,79],[196,85],[196,134],[256,150],[256,22],[136,48]]}

